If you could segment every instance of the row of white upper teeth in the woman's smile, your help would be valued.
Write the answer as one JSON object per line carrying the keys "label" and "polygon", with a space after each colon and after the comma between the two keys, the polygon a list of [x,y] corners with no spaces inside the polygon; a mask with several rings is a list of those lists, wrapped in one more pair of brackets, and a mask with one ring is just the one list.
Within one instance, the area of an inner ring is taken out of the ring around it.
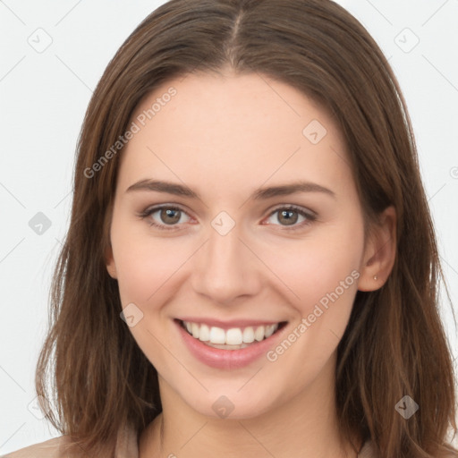
{"label": "row of white upper teeth in the woman's smile", "polygon": [[208,327],[204,324],[191,323],[189,321],[183,321],[182,323],[194,338],[209,344],[242,345],[251,344],[255,340],[261,342],[273,335],[278,329],[278,323],[258,327],[232,327],[226,331],[221,327]]}

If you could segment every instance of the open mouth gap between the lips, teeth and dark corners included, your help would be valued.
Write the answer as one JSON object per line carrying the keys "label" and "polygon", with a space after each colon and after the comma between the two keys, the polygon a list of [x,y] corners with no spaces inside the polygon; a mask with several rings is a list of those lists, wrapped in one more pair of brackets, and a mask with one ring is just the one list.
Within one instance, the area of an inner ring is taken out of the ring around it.
{"label": "open mouth gap between the lips, teeth and dark corners included", "polygon": [[259,323],[244,327],[216,327],[206,323],[176,320],[178,324],[200,343],[220,350],[242,350],[267,340],[283,329],[287,321]]}

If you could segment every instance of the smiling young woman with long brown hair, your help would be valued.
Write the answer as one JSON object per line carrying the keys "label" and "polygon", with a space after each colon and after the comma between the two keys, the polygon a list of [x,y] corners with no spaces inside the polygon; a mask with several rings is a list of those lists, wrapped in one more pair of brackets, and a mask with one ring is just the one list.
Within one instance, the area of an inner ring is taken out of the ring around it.
{"label": "smiling young woman with long brown hair", "polygon": [[8,456],[457,455],[411,123],[342,7],[162,5],[74,180],[37,368],[63,436]]}

